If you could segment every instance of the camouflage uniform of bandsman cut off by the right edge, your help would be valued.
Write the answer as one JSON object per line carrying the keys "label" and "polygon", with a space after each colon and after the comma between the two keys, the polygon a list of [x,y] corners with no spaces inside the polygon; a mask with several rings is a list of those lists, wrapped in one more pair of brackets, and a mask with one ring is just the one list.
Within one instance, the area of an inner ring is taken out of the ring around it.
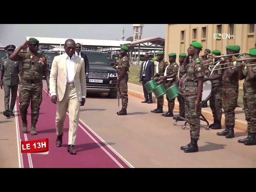
{"label": "camouflage uniform of bandsman cut off by the right edge", "polygon": [[[248,79],[248,72],[246,68],[244,68],[242,72],[245,76],[243,84],[243,101],[247,129],[248,132],[256,133],[256,81],[255,79]],[[252,72],[256,73],[256,67],[252,68]]]}

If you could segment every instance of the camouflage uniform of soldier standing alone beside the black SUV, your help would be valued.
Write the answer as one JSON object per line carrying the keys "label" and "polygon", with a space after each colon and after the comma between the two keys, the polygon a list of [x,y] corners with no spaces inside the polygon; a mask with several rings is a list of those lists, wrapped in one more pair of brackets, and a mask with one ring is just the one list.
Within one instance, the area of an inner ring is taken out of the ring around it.
{"label": "camouflage uniform of soldier standing alone beside the black SUV", "polygon": [[124,56],[123,58],[121,58],[119,60],[118,68],[117,68],[118,77],[120,75],[120,72],[121,72],[122,68],[125,68],[125,71],[126,71],[124,77],[120,80],[119,87],[118,87],[120,97],[122,98],[122,110],[126,110],[127,105],[128,105],[128,94],[127,94],[128,85],[127,85],[127,82],[128,82],[129,67],[130,67],[130,64],[129,64],[129,59],[128,59],[127,56]]}

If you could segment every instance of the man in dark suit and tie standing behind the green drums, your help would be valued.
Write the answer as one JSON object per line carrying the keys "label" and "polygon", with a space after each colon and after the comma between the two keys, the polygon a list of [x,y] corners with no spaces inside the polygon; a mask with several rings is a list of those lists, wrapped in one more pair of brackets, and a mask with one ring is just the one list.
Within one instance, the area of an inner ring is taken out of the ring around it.
{"label": "man in dark suit and tie standing behind the green drums", "polygon": [[152,103],[152,93],[147,92],[145,84],[154,76],[154,63],[149,60],[149,55],[145,54],[145,62],[141,64],[140,81],[142,81],[145,100],[142,103]]}

